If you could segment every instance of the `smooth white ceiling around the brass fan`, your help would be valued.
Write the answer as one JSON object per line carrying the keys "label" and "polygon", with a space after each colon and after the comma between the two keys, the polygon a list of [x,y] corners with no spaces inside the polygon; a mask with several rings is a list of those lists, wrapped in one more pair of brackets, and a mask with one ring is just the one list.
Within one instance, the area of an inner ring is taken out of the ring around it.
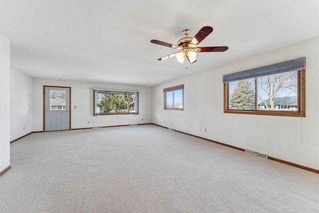
{"label": "smooth white ceiling around the brass fan", "polygon": [[[0,0],[11,67],[32,77],[155,86],[319,35],[319,0]],[[171,44],[214,31],[185,65]],[[318,48],[318,47],[314,47]]]}

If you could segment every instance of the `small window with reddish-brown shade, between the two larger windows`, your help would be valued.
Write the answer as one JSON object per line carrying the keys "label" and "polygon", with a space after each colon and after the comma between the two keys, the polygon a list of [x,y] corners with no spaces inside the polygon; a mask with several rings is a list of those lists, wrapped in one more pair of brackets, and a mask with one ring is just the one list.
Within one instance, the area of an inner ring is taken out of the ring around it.
{"label": "small window with reddish-brown shade, between the two larger windows", "polygon": [[163,89],[164,109],[184,110],[184,85]]}

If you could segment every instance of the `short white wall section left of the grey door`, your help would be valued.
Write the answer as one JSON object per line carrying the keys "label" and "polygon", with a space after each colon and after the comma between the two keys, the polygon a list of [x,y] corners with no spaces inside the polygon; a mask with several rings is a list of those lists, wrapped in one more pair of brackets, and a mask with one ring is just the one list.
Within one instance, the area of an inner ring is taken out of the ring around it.
{"label": "short white wall section left of the grey door", "polygon": [[10,68],[10,141],[32,132],[32,78]]}

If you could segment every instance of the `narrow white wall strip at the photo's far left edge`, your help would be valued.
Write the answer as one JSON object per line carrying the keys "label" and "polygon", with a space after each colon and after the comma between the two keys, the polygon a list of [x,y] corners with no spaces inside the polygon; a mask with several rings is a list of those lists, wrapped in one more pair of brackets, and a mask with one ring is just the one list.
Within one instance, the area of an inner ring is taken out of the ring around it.
{"label": "narrow white wall strip at the photo's far left edge", "polygon": [[10,42],[0,34],[0,172],[10,165]]}

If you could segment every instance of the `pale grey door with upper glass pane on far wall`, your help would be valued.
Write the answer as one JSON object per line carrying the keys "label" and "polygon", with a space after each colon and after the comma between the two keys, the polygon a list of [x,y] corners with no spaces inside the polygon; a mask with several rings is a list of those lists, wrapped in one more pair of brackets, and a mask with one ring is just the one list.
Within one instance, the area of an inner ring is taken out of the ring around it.
{"label": "pale grey door with upper glass pane on far wall", "polygon": [[44,87],[44,131],[70,129],[70,88]]}

